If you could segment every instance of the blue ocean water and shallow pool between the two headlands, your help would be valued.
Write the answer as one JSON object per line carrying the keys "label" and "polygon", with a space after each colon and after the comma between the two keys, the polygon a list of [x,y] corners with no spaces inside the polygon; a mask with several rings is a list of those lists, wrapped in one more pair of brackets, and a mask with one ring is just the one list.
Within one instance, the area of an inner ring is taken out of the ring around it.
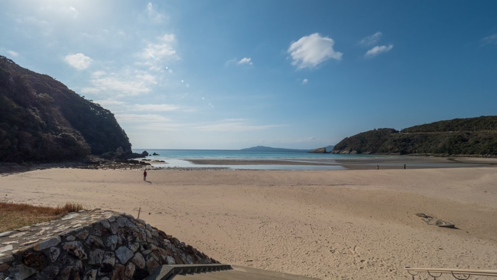
{"label": "blue ocean water and shallow pool between the two headlands", "polygon": [[[243,150],[174,150],[174,149],[133,149],[134,153],[147,151],[150,156],[148,160],[162,160],[166,163],[153,164],[155,167],[224,167],[229,169],[254,169],[254,170],[343,170],[345,168],[336,165],[320,165],[323,163],[336,163],[335,160],[343,158],[370,158],[384,157],[371,155],[336,155],[336,154],[314,154],[305,151],[285,152],[254,152]],[[159,154],[152,156],[152,154]],[[143,159],[143,158],[138,158]],[[296,162],[312,162],[313,165],[198,165],[189,162],[189,159],[232,159],[232,160],[290,160]]]}

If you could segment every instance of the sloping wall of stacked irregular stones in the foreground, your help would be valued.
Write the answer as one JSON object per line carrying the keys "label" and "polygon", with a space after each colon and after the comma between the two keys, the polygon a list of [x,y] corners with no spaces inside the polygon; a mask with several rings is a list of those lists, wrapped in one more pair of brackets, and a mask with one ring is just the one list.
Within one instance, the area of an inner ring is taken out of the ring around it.
{"label": "sloping wall of stacked irregular stones in the foreground", "polygon": [[218,263],[142,219],[100,209],[0,233],[0,280],[142,280],[161,265]]}

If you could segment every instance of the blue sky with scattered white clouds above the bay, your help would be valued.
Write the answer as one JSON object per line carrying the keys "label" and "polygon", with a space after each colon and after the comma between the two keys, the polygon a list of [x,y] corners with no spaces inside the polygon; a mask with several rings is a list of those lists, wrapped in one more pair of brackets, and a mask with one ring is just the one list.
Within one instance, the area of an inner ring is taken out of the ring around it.
{"label": "blue sky with scattered white clouds above the bay", "polygon": [[134,148],[314,149],[496,115],[497,1],[1,0],[0,54]]}

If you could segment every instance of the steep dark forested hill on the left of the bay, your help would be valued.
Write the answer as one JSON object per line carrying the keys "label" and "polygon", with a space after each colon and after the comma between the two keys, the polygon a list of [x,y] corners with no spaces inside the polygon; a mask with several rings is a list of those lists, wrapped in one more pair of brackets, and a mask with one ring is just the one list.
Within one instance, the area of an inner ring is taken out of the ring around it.
{"label": "steep dark forested hill on the left of the bay", "polygon": [[74,160],[119,147],[131,153],[109,110],[0,56],[0,162]]}

